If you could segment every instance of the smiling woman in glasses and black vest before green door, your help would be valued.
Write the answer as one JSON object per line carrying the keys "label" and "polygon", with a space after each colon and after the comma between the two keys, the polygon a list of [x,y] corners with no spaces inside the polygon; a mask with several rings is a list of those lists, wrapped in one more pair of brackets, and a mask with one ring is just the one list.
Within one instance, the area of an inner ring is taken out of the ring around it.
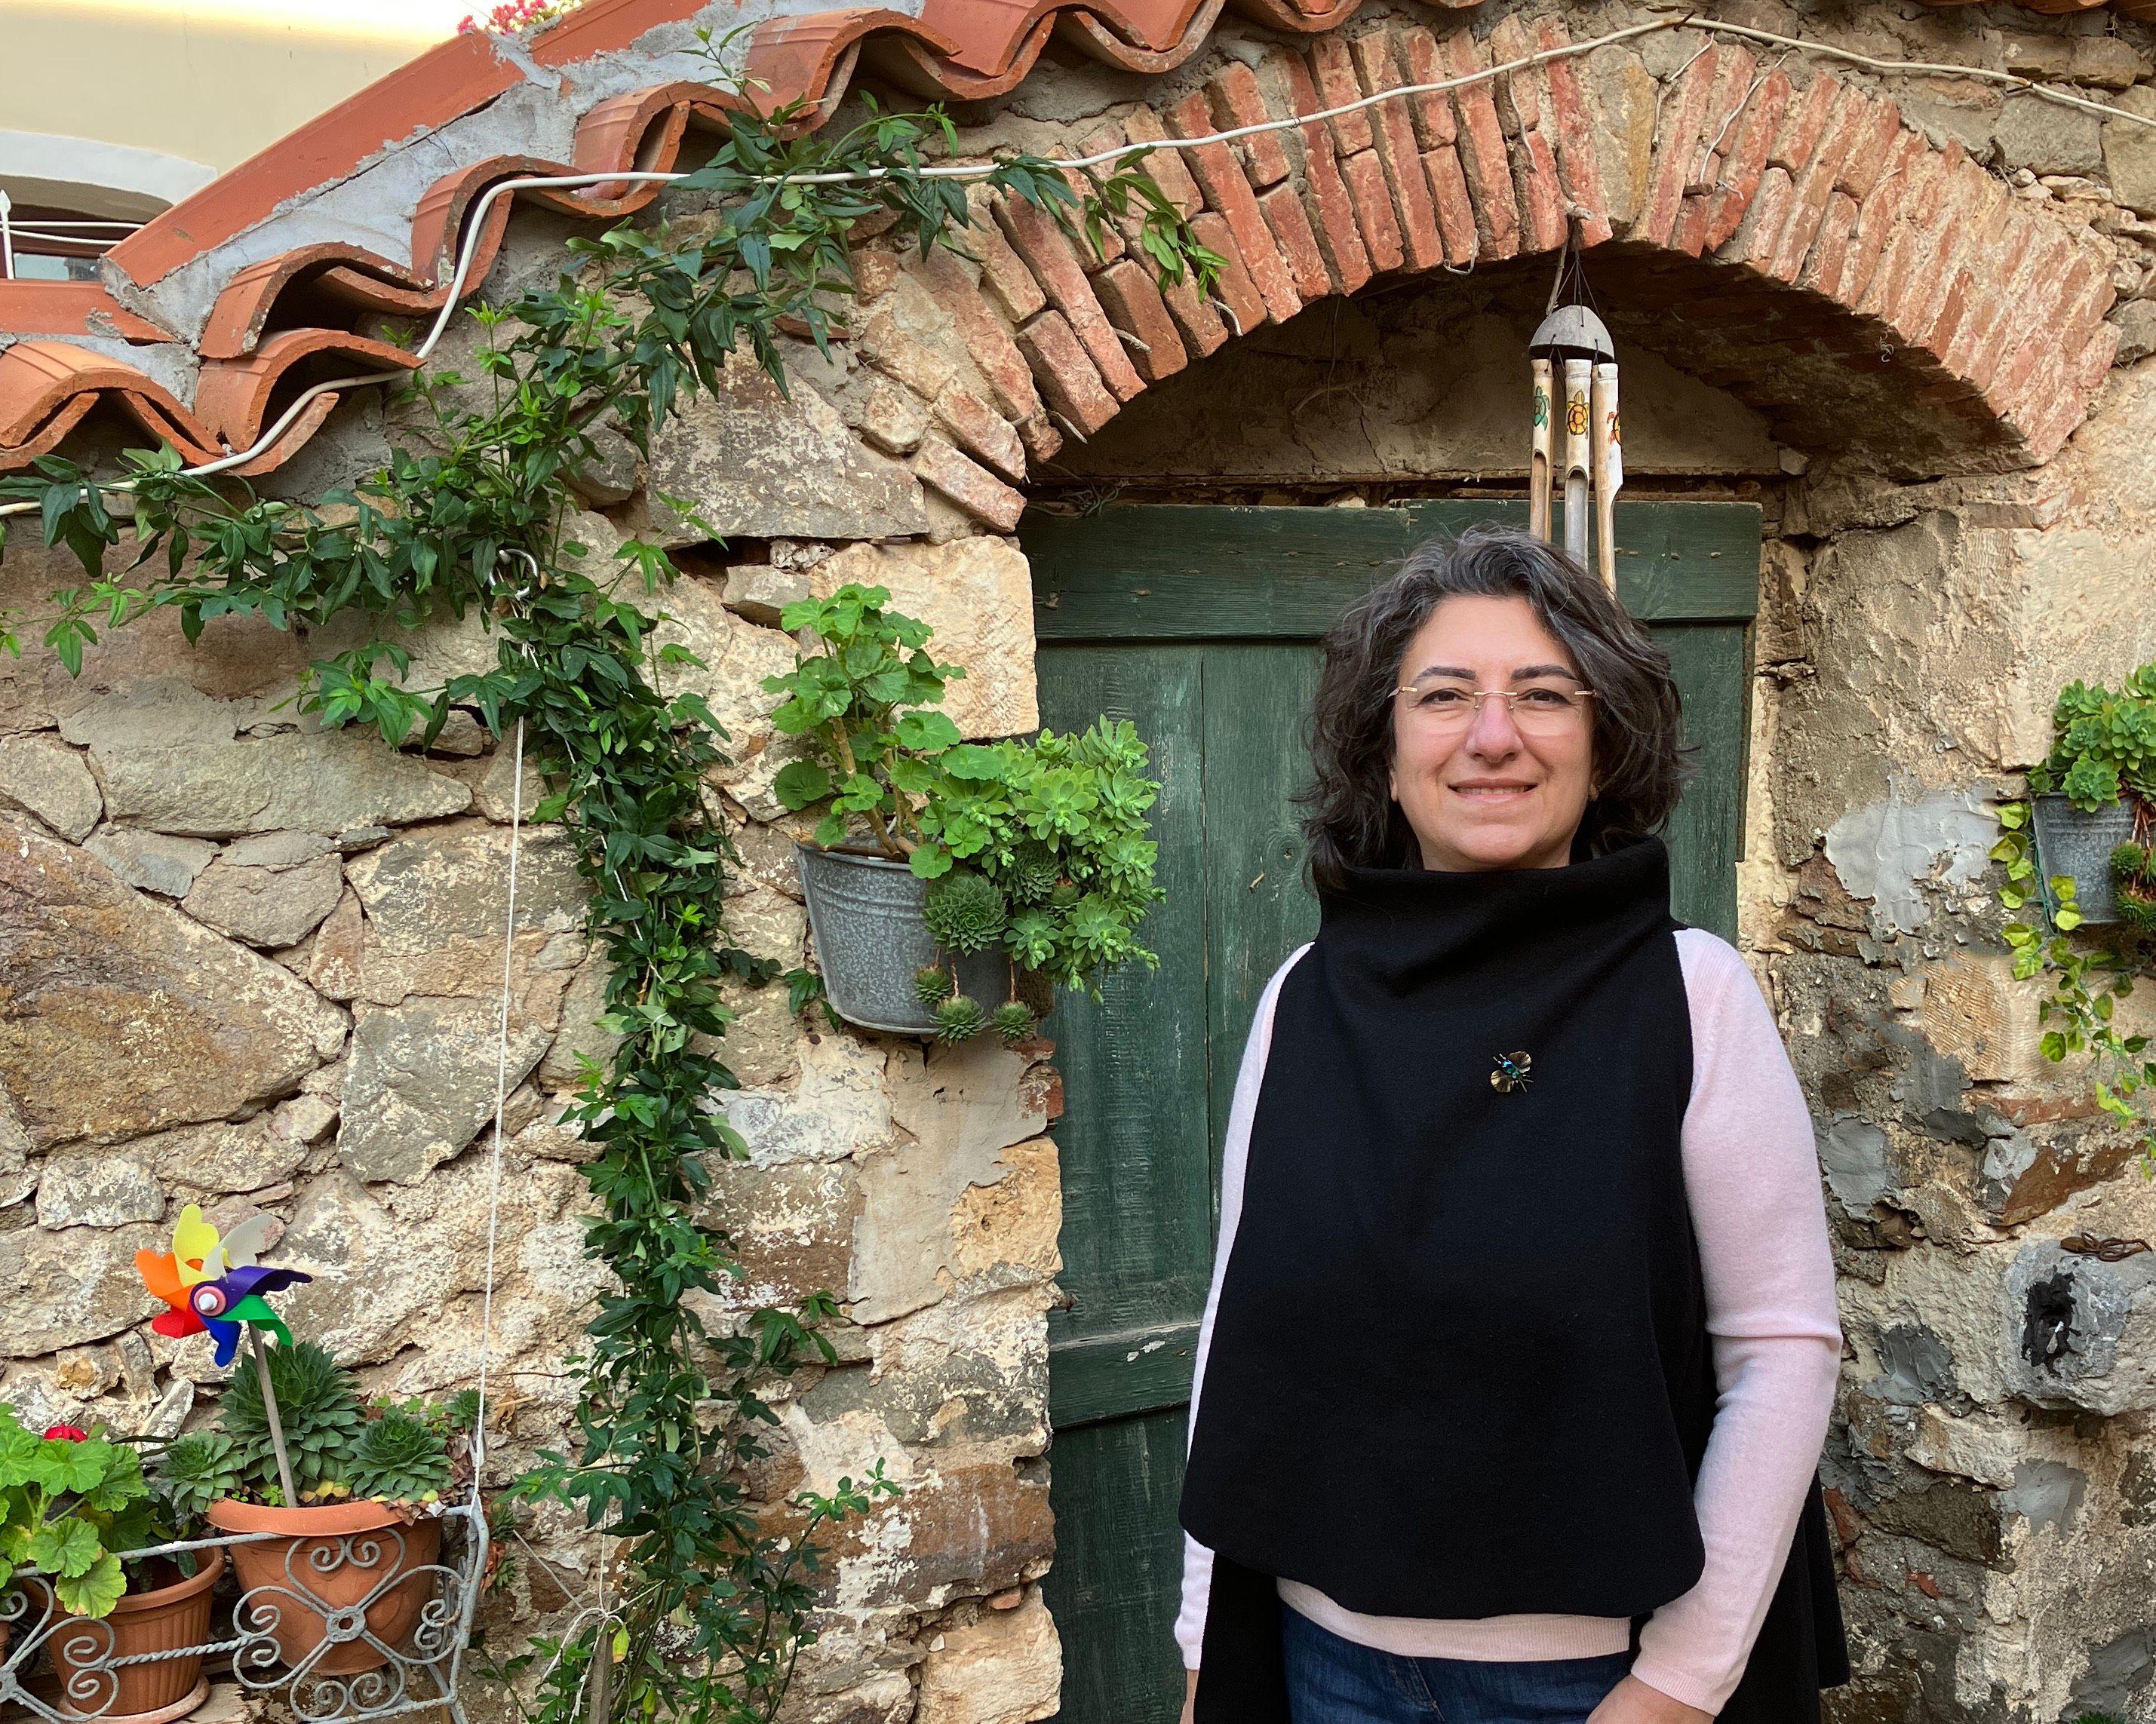
{"label": "smiling woman in glasses and black vest before green door", "polygon": [[1669,914],[1669,659],[1548,545],[1326,638],[1319,933],[1266,985],[1199,1332],[1197,1724],[1818,1724],[1841,1360],[1811,1121]]}

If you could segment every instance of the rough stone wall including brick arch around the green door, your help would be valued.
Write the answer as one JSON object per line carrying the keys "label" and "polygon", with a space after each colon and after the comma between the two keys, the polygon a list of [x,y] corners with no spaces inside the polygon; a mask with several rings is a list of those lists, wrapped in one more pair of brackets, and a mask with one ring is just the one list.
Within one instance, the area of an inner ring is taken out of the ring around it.
{"label": "rough stone wall including brick arch around the green door", "polygon": [[[1574,37],[1632,17],[1565,9]],[[2156,112],[2147,34],[2109,15],[1744,17]],[[1250,103],[1291,112],[1304,91],[1337,99],[1546,28],[1505,4],[1367,9],[1315,43],[1229,24],[1166,78],[1044,67],[959,116],[972,149],[1097,147]],[[1662,34],[1598,54],[1578,84],[1516,80],[1488,103],[1214,151],[1194,177],[1162,168],[1235,265],[1225,310],[1156,293],[1125,254],[1087,269],[1022,209],[983,205],[972,261],[918,263],[871,237],[856,332],[830,360],[791,349],[791,401],[737,369],[649,470],[621,450],[591,474],[578,539],[602,556],[627,534],[679,550],[668,629],[705,659],[694,685],[733,733],[735,929],[798,963],[770,793],[787,746],[759,687],[791,662],[783,603],[843,580],[890,586],[972,668],[953,698],[962,728],[1015,733],[1037,722],[1009,539],[1026,493],[1503,489],[1522,332],[1548,282],[1533,235],[1552,207],[1561,226],[1593,168],[1600,203],[1580,207],[1617,241],[1593,280],[1626,345],[1634,493],[1751,496],[1772,532],[1742,931],[1815,1110],[1843,1274],[1828,1483],[1858,1681],[1833,1711],[2156,1720],[2156,1468],[2134,1452],[2156,1412],[2137,1265],[2156,1259],[2061,1246],[2147,1239],[2156,1198],[2072,1073],[2035,1058],[1984,858],[1990,804],[2044,752],[2055,687],[2156,655],[2156,228],[2137,213],[2156,209],[2156,144],[1979,84],[1835,71],[1822,86],[1800,60],[1705,47]],[[1818,127],[1746,123],[1761,93]],[[1725,108],[1731,149],[1692,155]],[[1738,144],[1761,127],[1746,168]],[[1820,170],[1822,138],[1843,166]],[[1865,149],[1936,175],[1966,233],[1940,235],[1923,203],[1865,226],[1874,196],[1891,198]],[[1416,159],[1427,181],[1406,175]],[[1673,181],[1669,162],[1686,164]],[[1453,185],[1464,205],[1447,205]],[[694,228],[692,205],[671,213]],[[558,237],[552,218],[520,218],[489,291],[548,267]],[[1423,278],[1393,274],[1410,263]],[[2072,340],[2053,353],[2031,330]],[[2016,369],[2022,351],[2037,358]],[[2113,353],[2061,450],[2076,390]],[[302,493],[364,472],[392,433],[377,403],[347,403],[274,483]],[[0,578],[0,603],[34,612],[67,571],[17,547]],[[343,644],[213,625],[190,651],[153,621],[80,679],[37,651],[0,659],[0,1394],[32,1418],[170,1431],[213,1392],[198,1347],[147,1330],[129,1269],[188,1200],[222,1222],[276,1213],[280,1252],[321,1276],[291,1299],[295,1325],[369,1381],[431,1390],[476,1368],[509,763],[474,724],[425,754],[317,735],[285,703],[302,666]],[[468,629],[412,644],[423,681],[487,653]],[[595,1284],[578,1256],[578,1144],[550,1121],[571,1052],[595,1037],[597,976],[558,843],[530,832],[524,866],[494,1360],[511,1384],[505,1465],[558,1437],[563,1355]],[[714,1209],[742,1241],[742,1297],[830,1287],[849,1315],[843,1362],[785,1399],[761,1483],[774,1498],[830,1487],[884,1457],[906,1485],[843,1545],[789,1715],[1046,1718],[1048,1049],[923,1056],[793,1019],[772,991],[735,1006],[727,1058],[746,1088],[724,1106],[752,1157],[722,1170]],[[2033,1299],[2070,1306],[2063,1358],[2024,1349]],[[571,1528],[533,1541],[571,1588],[589,1584]],[[565,1601],[539,1565],[517,1588],[533,1614]]]}

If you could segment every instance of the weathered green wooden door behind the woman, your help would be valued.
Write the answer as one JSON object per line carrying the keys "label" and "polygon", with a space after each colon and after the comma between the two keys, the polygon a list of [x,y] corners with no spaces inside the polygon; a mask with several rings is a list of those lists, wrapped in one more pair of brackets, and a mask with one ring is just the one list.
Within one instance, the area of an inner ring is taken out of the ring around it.
{"label": "weathered green wooden door behind the woman", "polygon": [[[1050,1315],[1063,1724],[1173,1724],[1184,1435],[1218,1226],[1220,1136],[1250,1011],[1317,927],[1289,795],[1317,636],[1438,530],[1526,504],[1110,506],[1028,517],[1041,722],[1128,718],[1153,750],[1158,972],[1063,996],[1063,1274]],[[1675,912],[1736,935],[1759,511],[1617,509],[1619,595],[1684,690],[1701,767],[1671,828]]]}

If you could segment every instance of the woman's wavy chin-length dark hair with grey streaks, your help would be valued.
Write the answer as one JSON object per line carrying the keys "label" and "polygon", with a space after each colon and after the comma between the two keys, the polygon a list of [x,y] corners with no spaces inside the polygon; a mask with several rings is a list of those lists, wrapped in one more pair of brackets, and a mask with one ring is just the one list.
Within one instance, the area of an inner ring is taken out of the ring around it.
{"label": "woman's wavy chin-length dark hair with grey streaks", "polygon": [[1343,868],[1419,868],[1421,847],[1386,787],[1393,765],[1393,690],[1408,640],[1440,601],[1473,593],[1520,597],[1570,651],[1595,690],[1593,761],[1600,791],[1572,838],[1572,860],[1660,832],[1695,769],[1669,655],[1591,575],[1554,545],[1516,528],[1477,526],[1416,545],[1382,586],[1339,616],[1324,638],[1311,709],[1311,884],[1339,890]]}

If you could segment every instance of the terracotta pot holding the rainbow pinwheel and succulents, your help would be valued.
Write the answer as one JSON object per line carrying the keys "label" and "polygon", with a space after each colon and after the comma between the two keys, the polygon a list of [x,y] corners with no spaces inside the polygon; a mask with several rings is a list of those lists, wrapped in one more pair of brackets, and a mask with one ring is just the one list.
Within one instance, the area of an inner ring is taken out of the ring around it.
{"label": "terracotta pot holding the rainbow pinwheel and succulents", "polygon": [[[407,1651],[433,1599],[440,1521],[405,1521],[379,1502],[265,1508],[226,1498],[209,1504],[209,1524],[220,1532],[278,1534],[229,1547],[241,1595],[235,1629],[267,1633],[295,1670],[379,1670],[388,1664],[379,1646]],[[241,1649],[235,1659],[246,1655]]]}

